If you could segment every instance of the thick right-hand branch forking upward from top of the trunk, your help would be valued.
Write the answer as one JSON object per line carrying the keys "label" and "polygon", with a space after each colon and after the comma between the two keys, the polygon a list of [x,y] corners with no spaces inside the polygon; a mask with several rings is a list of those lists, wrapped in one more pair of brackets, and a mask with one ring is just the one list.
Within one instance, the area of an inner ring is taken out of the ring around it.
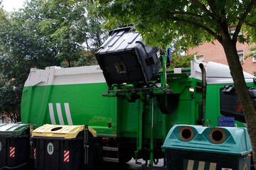
{"label": "thick right-hand branch forking upward from top of the trunk", "polygon": [[250,1],[250,3],[248,4],[246,10],[244,13],[242,13],[242,17],[240,18],[238,25],[235,28],[235,33],[233,35],[233,40],[235,40],[235,42],[238,40],[238,33],[241,30],[242,27],[242,23],[245,23],[245,18],[248,16],[248,14],[250,13],[250,11],[252,11],[252,7],[255,5],[256,0],[252,0]]}

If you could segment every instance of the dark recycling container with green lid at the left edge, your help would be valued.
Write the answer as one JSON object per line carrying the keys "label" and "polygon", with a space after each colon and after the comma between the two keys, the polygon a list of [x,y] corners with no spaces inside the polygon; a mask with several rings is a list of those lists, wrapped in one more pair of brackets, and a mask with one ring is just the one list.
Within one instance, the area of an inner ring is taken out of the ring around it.
{"label": "dark recycling container with green lid at the left edge", "polygon": [[29,169],[28,124],[0,124],[0,169]]}

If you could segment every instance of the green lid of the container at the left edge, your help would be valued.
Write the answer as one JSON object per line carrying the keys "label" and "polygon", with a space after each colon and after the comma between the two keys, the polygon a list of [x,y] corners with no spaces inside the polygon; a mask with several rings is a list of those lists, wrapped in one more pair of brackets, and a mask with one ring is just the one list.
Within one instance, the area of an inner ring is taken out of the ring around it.
{"label": "green lid of the container at the left edge", "polygon": [[29,124],[0,124],[1,136],[19,136],[24,130],[29,128]]}

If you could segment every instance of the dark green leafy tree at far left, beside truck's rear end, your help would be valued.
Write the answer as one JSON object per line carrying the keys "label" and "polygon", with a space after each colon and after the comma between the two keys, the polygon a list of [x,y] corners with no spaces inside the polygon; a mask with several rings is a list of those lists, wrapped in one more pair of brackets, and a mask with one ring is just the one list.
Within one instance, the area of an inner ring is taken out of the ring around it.
{"label": "dark green leafy tree at far left, beside truck's rear end", "polygon": [[20,121],[21,94],[30,68],[43,69],[60,62],[47,40],[36,34],[35,22],[27,22],[21,12],[3,12],[0,18],[0,113]]}

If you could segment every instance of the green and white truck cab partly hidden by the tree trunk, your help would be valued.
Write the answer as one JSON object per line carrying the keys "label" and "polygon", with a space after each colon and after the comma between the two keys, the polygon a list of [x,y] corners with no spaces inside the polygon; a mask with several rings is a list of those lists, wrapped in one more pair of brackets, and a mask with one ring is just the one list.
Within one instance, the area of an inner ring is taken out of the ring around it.
{"label": "green and white truck cab partly hidden by the tree trunk", "polygon": [[[256,107],[255,77],[246,72],[244,72],[244,77]],[[244,127],[245,118],[229,67],[209,62],[206,83],[206,125],[218,126],[219,117],[225,116],[235,118],[235,125]]]}

